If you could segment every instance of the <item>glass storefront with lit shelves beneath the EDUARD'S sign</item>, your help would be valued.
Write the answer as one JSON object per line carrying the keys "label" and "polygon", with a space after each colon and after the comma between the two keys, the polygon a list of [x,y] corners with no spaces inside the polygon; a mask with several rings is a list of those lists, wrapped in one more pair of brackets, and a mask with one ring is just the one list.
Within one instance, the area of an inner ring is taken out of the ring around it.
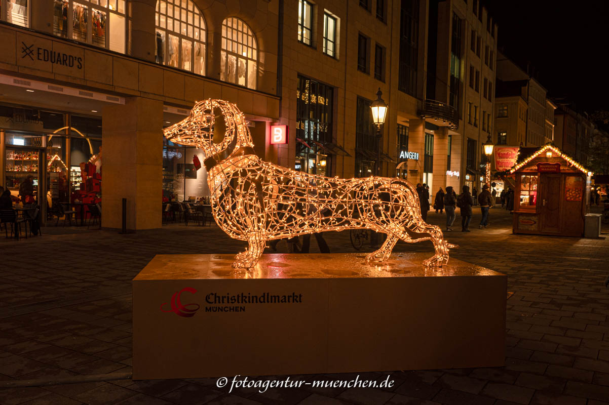
{"label": "glass storefront with lit shelves beneath the EDUARD'S sign", "polygon": [[[102,120],[35,108],[0,106],[4,184],[18,204],[101,201]],[[77,211],[80,215],[80,211]],[[86,215],[86,209],[83,209]]]}

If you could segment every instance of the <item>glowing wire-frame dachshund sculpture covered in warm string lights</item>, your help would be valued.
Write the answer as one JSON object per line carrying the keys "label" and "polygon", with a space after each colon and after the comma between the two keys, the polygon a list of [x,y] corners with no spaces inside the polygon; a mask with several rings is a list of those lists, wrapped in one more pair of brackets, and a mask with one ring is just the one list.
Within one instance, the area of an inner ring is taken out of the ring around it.
{"label": "glowing wire-frame dachshund sculpture covered in warm string lights", "polygon": [[224,100],[196,103],[190,115],[164,131],[177,144],[205,154],[216,223],[231,238],[245,240],[234,268],[252,268],[266,242],[328,230],[372,229],[387,234],[370,261],[385,261],[398,240],[431,240],[435,255],[426,266],[448,263],[440,227],[421,218],[412,185],[397,178],[339,179],[309,175],[262,161],[239,109]]}

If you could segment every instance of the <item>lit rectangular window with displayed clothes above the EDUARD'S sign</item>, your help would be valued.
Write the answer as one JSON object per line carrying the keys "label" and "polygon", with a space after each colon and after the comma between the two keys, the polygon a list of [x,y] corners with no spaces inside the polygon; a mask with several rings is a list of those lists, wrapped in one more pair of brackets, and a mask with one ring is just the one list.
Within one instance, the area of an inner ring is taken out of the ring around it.
{"label": "lit rectangular window with displayed clothes above the EDUARD'S sign", "polygon": [[53,33],[125,53],[126,0],[54,0]]}

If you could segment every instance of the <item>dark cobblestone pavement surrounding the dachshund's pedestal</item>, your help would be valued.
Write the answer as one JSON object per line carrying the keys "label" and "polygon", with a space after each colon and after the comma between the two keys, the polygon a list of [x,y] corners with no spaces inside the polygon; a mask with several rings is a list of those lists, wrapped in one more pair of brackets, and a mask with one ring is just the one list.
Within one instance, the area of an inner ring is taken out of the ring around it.
{"label": "dark cobblestone pavement surrounding the dachshund's pedestal", "polygon": [[[444,218],[430,212],[428,220],[442,224]],[[504,210],[491,210],[488,229],[477,229],[479,218],[474,207],[472,231],[446,238],[460,245],[453,257],[509,277],[514,294],[507,300],[505,367],[361,373],[377,381],[390,374],[395,385],[265,393],[228,393],[216,379],[118,379],[4,388],[0,404],[609,404],[608,230],[600,239],[512,235],[512,216]],[[130,235],[67,227],[43,232],[27,240],[0,238],[0,387],[130,373],[130,280],[155,254],[235,253],[244,246],[215,226],[171,224]],[[326,240],[332,252],[353,251],[347,232]],[[314,238],[311,245],[315,252]],[[432,247],[398,244],[395,251],[431,254]]]}

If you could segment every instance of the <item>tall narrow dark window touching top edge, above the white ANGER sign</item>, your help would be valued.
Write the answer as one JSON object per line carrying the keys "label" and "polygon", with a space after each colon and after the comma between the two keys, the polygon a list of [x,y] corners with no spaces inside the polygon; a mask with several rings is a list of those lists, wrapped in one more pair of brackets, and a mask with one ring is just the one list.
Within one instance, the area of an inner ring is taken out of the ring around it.
{"label": "tall narrow dark window touching top edge, above the white ANGER sign", "polygon": [[418,0],[401,0],[398,89],[410,95],[417,94],[418,20]]}

